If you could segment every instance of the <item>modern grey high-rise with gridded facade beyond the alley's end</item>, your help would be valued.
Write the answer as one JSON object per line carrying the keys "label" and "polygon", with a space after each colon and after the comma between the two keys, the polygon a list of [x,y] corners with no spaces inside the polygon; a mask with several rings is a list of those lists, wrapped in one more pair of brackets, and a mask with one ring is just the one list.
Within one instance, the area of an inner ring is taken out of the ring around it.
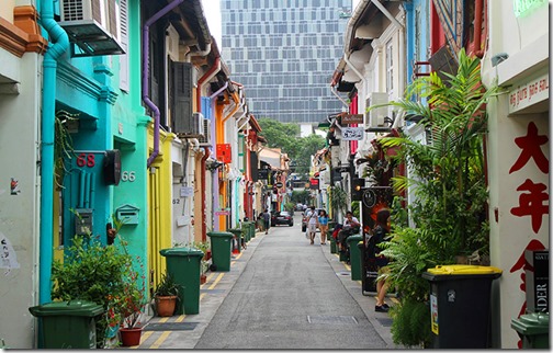
{"label": "modern grey high-rise with gridded facade beyond the alley's end", "polygon": [[316,124],[341,112],[329,83],[351,0],[221,0],[221,14],[222,56],[257,118]]}

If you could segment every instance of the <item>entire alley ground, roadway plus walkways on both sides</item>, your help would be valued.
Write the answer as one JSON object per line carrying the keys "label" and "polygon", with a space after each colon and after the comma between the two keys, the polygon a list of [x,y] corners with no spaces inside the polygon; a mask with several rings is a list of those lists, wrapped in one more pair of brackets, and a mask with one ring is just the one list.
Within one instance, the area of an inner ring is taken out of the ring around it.
{"label": "entire alley ground, roadway plus walkways on both sides", "polygon": [[[351,281],[329,244],[294,226],[257,232],[201,287],[200,314],[151,318],[137,349],[394,349],[392,319]],[[317,235],[318,238],[318,235]],[[318,240],[318,239],[317,239]],[[340,285],[341,284],[341,285]],[[387,298],[394,304],[394,298]]]}

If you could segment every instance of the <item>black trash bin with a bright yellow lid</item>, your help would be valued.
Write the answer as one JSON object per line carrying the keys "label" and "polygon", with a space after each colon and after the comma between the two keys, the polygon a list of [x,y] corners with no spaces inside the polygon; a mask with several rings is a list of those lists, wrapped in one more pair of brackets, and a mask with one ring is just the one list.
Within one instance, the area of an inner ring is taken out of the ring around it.
{"label": "black trash bin with a bright yellow lid", "polygon": [[493,266],[438,265],[422,273],[430,282],[432,348],[490,348]]}

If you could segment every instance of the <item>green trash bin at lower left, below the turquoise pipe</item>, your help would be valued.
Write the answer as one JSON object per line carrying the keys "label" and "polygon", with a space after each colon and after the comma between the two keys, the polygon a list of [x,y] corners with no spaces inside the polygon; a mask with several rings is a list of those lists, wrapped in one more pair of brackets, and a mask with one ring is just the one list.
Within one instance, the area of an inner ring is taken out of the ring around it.
{"label": "green trash bin at lower left, below the turquoise pipe", "polygon": [[43,339],[40,349],[95,349],[95,318],[103,308],[92,301],[53,301],[29,308],[42,320]]}

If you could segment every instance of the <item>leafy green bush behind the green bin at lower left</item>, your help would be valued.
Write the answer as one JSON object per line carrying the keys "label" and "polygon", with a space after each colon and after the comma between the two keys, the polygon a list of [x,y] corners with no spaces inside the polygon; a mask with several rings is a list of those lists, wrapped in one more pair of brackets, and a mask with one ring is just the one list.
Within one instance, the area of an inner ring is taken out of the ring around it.
{"label": "leafy green bush behind the green bin at lower left", "polygon": [[109,327],[137,324],[146,305],[145,278],[134,270],[135,259],[121,237],[119,243],[105,247],[90,234],[76,236],[64,261],[54,260],[52,267],[53,299],[90,300],[104,308],[104,316],[97,321],[99,348],[103,348]]}

